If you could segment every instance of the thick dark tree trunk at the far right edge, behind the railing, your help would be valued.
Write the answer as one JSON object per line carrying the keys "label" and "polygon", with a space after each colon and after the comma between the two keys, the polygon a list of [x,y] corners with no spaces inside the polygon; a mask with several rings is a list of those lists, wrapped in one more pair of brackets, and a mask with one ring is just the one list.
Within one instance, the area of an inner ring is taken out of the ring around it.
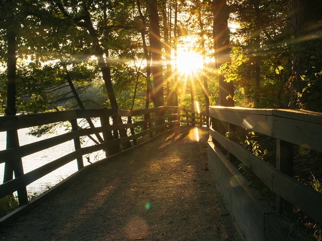
{"label": "thick dark tree trunk at the far right edge, behind the railing", "polygon": [[[305,107],[306,101],[305,98],[302,98],[303,94],[311,95],[307,94],[307,90],[311,89],[313,84],[317,89],[321,89],[322,86],[321,66],[318,64],[321,61],[320,48],[317,47],[321,43],[322,3],[317,0],[290,0],[288,6],[293,44],[293,65],[290,79],[292,93],[289,106],[299,108]],[[319,77],[316,78],[316,74]],[[313,82],[310,81],[311,79],[314,79]],[[305,81],[310,81],[310,83],[307,84]],[[308,99],[310,98],[308,97]]]}

